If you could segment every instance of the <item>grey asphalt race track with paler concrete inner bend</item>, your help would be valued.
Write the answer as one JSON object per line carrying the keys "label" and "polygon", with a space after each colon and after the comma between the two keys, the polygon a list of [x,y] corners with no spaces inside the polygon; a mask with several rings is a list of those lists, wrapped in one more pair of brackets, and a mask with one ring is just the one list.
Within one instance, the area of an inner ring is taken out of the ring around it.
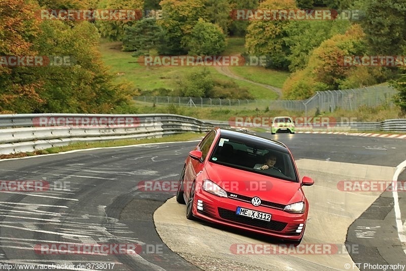
{"label": "grey asphalt race track with paler concrete inner bend", "polygon": [[[231,253],[233,244],[278,242],[188,221],[185,205],[173,199],[175,192],[143,191],[146,180],[179,179],[184,159],[197,142],[175,142],[0,161],[1,180],[49,184],[46,191],[3,187],[0,192],[0,269],[60,264],[71,267],[59,270],[348,270],[345,263],[351,263],[349,270],[375,270],[354,268],[353,263],[406,264],[399,239],[406,220],[404,192],[394,200],[392,192],[337,189],[340,180],[391,181],[396,166],[406,160],[406,140],[263,135],[287,144],[300,175],[315,179],[313,187],[304,188],[311,209],[303,244],[346,244],[356,250],[333,255]],[[406,174],[398,180],[406,180]],[[38,250],[52,244],[138,244],[139,250],[97,255]]]}

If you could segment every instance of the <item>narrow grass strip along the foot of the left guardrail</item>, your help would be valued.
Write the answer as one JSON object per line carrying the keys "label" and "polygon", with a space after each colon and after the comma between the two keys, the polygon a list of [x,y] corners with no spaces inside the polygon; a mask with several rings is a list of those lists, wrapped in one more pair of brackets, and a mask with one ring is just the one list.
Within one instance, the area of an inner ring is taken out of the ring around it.
{"label": "narrow grass strip along the foot of the left guardrail", "polygon": [[74,143],[67,146],[51,147],[46,149],[37,150],[36,152],[29,153],[18,153],[10,155],[0,155],[0,159],[7,158],[17,158],[17,157],[27,157],[36,155],[46,155],[46,154],[57,154],[61,152],[67,152],[69,150],[75,149],[87,149],[87,148],[97,148],[97,147],[116,147],[116,146],[126,146],[126,145],[138,145],[145,143],[159,143],[159,142],[179,142],[188,140],[198,140],[201,139],[206,133],[183,133],[171,136],[164,136],[161,138],[146,138],[146,139],[121,139],[114,141],[102,141],[102,142],[80,142]]}

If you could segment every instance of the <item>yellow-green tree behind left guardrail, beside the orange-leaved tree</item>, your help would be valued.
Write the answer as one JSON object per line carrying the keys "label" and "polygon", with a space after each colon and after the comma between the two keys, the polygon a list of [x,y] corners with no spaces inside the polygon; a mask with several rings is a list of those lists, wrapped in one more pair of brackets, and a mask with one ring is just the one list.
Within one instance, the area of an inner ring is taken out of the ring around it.
{"label": "yellow-green tree behind left guardrail, beside the orange-leaved tree", "polygon": [[128,104],[131,92],[113,84],[98,53],[99,34],[87,21],[74,28],[57,20],[44,21],[34,40],[41,55],[69,56],[67,66],[31,69],[44,82],[39,112],[111,113]]}

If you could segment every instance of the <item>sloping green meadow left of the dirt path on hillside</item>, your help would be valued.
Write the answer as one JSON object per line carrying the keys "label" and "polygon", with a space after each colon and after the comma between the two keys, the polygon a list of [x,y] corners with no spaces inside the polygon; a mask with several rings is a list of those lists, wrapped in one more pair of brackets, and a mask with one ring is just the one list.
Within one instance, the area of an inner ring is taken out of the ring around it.
{"label": "sloping green meadow left of the dirt path on hillside", "polygon": [[[145,67],[137,63],[137,57],[132,57],[130,52],[121,51],[120,42],[107,42],[101,40],[100,53],[103,61],[116,74],[116,82],[129,83],[133,88],[154,89],[167,88],[176,89],[177,81],[185,74],[192,71],[204,69],[204,67]],[[248,82],[235,80],[220,74],[216,68],[207,67],[214,78],[230,80],[240,87],[245,87],[252,93],[254,98],[276,99],[277,94],[267,88],[253,85]]]}

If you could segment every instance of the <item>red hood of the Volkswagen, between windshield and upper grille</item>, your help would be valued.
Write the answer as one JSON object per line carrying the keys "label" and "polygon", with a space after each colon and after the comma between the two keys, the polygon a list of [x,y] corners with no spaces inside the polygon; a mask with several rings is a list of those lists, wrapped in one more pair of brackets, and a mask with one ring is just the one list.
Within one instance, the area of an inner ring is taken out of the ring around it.
{"label": "red hood of the Volkswagen, between windshield and upper grille", "polygon": [[211,162],[207,163],[205,171],[212,182],[230,193],[284,205],[304,199],[299,183]]}

